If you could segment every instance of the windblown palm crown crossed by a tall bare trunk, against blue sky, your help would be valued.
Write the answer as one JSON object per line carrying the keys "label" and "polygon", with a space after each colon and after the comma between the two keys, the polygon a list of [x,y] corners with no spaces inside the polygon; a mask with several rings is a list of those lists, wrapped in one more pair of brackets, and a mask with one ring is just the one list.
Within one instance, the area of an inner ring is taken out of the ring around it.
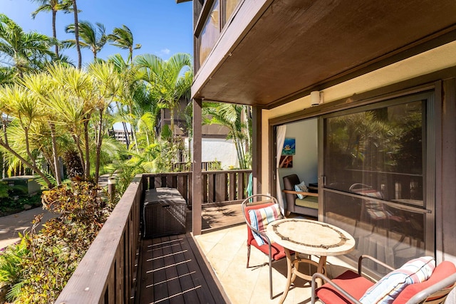
{"label": "windblown palm crown crossed by a tall bare trunk, against blue sky", "polygon": [[[79,45],[81,48],[90,48],[93,53],[93,61],[97,59],[97,53],[105,46],[106,43],[106,30],[102,23],[95,23],[93,26],[89,21],[81,21],[79,23]],[[75,33],[76,26],[70,24],[65,28],[66,33]],[[75,39],[64,41],[68,46],[76,46]]]}

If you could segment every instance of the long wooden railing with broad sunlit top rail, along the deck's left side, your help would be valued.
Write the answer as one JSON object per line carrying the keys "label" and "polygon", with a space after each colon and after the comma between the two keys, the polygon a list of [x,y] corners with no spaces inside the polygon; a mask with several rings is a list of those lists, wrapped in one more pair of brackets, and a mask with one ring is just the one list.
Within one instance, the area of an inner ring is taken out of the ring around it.
{"label": "long wooden railing with broad sunlit top rail, along the deck's left side", "polygon": [[141,177],[133,179],[56,303],[130,303],[138,265]]}

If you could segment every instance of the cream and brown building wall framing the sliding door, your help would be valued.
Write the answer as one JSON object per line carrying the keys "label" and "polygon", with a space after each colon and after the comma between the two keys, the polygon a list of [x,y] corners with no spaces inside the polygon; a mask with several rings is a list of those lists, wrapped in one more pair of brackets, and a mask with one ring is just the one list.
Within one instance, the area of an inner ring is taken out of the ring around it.
{"label": "cream and brown building wall framing the sliding door", "polygon": [[[345,83],[325,89],[325,103],[346,100],[361,93],[378,93],[375,98],[381,100],[381,90],[388,87],[391,93],[394,88],[403,88],[405,93],[413,93],[416,85],[432,83],[435,86],[435,98],[442,100],[442,107],[435,113],[436,123],[436,188],[435,188],[435,257],[437,263],[442,260],[456,263],[456,42],[435,48],[404,61],[388,65],[372,73],[361,75]],[[423,83],[420,81],[423,80]],[[413,83],[410,88],[408,83]],[[418,84],[417,84],[418,83]],[[383,92],[385,93],[385,92]],[[390,98],[390,97],[389,97]],[[264,155],[261,180],[265,193],[271,192],[268,170],[271,159],[269,142],[271,135],[270,120],[284,117],[310,107],[310,96],[295,100],[272,110],[262,111],[261,132],[265,145],[261,147]],[[453,290],[447,303],[456,303],[456,292]]]}

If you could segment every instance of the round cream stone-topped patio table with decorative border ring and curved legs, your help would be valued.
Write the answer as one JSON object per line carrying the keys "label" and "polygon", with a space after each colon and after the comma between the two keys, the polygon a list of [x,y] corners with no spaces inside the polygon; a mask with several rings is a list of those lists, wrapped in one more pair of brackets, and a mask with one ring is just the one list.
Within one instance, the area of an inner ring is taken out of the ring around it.
{"label": "round cream stone-topped patio table with decorative border ring and curved legs", "polygon": [[[314,264],[309,259],[299,258],[299,253],[320,256],[317,272],[323,273],[327,256],[340,256],[355,248],[355,239],[348,232],[321,221],[311,219],[279,219],[267,226],[266,234],[285,248],[287,273],[286,287],[279,303],[284,303],[291,283],[296,276],[306,280],[311,276],[299,272],[299,263]],[[294,259],[290,251],[298,253]]]}

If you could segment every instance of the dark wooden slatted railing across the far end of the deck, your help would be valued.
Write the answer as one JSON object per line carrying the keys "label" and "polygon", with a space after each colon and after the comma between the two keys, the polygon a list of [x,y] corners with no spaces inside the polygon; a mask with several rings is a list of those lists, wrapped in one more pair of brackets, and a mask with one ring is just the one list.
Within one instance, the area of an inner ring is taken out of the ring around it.
{"label": "dark wooden slatted railing across the far end of the deck", "polygon": [[[249,174],[252,170],[202,172],[202,203],[242,201],[247,196]],[[177,188],[187,205],[192,205],[192,172],[142,174],[145,189]]]}

